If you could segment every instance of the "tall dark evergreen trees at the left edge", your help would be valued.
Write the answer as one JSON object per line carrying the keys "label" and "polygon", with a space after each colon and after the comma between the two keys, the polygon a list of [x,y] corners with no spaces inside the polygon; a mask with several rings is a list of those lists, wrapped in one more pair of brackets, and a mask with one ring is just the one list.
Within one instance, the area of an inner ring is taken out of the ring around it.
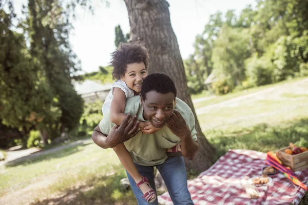
{"label": "tall dark evergreen trees at the left edge", "polygon": [[2,123],[17,128],[24,145],[32,129],[51,139],[70,131],[79,124],[83,100],[71,84],[79,67],[68,41],[69,10],[59,1],[29,0],[26,18],[17,19],[10,2],[9,12],[1,4]]}

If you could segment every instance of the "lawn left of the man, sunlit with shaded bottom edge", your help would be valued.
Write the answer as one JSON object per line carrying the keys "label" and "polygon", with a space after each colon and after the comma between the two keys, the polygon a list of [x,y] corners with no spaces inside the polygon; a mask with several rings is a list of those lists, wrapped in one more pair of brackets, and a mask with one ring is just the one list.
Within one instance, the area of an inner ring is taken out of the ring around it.
{"label": "lawn left of the man, sunlit with shaded bottom edge", "polygon": [[[0,203],[11,198],[13,202],[1,204],[47,204],[61,196],[59,204],[134,204],[132,192],[120,190],[125,176],[113,150],[103,150],[89,139],[83,145],[0,167]],[[16,195],[23,197],[22,202]]]}

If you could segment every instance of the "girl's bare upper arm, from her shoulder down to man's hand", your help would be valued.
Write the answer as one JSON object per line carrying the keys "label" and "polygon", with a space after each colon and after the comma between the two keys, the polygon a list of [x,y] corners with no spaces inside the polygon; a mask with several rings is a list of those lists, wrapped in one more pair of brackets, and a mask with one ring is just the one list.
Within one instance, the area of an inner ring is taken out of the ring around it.
{"label": "girl's bare upper arm, from her shoulder down to man's hand", "polygon": [[125,118],[126,95],[121,88],[113,88],[113,99],[110,106],[110,120],[120,125]]}

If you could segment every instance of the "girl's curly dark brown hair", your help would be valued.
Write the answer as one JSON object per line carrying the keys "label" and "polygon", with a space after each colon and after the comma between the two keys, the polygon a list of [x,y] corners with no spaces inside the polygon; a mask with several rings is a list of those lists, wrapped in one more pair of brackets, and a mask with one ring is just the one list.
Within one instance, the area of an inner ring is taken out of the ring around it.
{"label": "girl's curly dark brown hair", "polygon": [[147,70],[149,67],[149,55],[143,45],[139,43],[121,43],[118,49],[111,53],[112,78],[120,79],[121,75],[125,74],[127,65],[142,62]]}

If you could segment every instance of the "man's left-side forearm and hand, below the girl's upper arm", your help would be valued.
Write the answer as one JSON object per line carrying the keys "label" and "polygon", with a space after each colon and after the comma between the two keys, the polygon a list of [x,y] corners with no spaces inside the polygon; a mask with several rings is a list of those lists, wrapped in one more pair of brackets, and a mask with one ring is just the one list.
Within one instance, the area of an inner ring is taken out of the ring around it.
{"label": "man's left-side forearm and hand, below the girl's upper arm", "polygon": [[113,148],[135,136],[140,131],[138,125],[137,117],[130,117],[130,114],[128,114],[120,126],[116,125],[110,130],[107,137],[101,132],[100,127],[97,126],[93,131],[92,139],[101,148]]}

